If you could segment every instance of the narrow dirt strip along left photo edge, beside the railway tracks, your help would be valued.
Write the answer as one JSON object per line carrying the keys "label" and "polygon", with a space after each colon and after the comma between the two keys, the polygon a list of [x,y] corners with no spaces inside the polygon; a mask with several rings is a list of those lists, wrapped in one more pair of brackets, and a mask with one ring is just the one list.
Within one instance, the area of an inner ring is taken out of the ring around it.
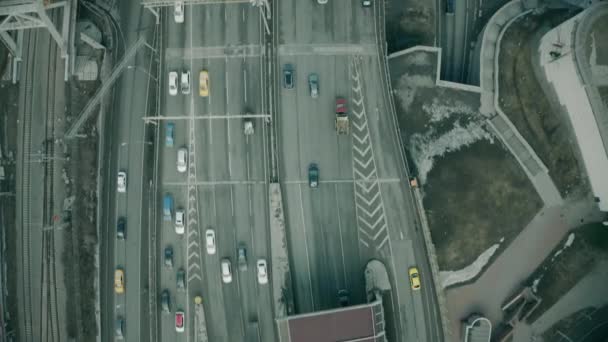
{"label": "narrow dirt strip along left photo edge, beside the railway tracks", "polygon": [[[1,63],[0,63],[1,65]],[[3,69],[0,69],[3,70]],[[6,274],[17,274],[17,250],[16,244],[13,243],[17,240],[17,232],[15,231],[15,214],[16,214],[16,203],[15,203],[15,157],[17,152],[17,111],[18,111],[18,99],[19,99],[19,85],[12,84],[10,82],[0,82],[0,139],[2,141],[2,165],[4,166],[4,172],[6,180],[1,182],[0,192],[12,193],[12,195],[5,195],[0,197],[0,206],[2,208],[1,214],[2,220],[1,226],[3,229],[4,239],[6,241],[5,254],[3,256],[6,266]],[[12,155],[12,157],[11,157]],[[16,277],[4,278],[8,293],[17,293],[17,279]],[[6,297],[6,308],[3,308],[7,319],[7,327],[5,331],[7,334],[11,334],[15,337],[15,340],[19,341],[19,329],[17,321],[17,297],[7,296]]]}

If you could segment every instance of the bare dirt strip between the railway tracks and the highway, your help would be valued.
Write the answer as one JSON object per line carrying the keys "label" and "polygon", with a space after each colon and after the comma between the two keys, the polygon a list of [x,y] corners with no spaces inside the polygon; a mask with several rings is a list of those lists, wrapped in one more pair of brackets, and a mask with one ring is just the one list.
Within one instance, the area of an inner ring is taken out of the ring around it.
{"label": "bare dirt strip between the railway tracks and the highway", "polygon": [[[84,107],[99,86],[98,82],[76,82],[70,85],[71,115]],[[97,336],[95,321],[95,245],[97,244],[97,136],[91,126],[82,129],[86,138],[70,142],[71,179],[68,196],[75,196],[71,225],[65,229],[65,253],[62,262],[66,275],[68,317],[77,317],[68,324],[68,336],[82,341],[94,341]],[[76,281],[75,281],[76,279]]]}

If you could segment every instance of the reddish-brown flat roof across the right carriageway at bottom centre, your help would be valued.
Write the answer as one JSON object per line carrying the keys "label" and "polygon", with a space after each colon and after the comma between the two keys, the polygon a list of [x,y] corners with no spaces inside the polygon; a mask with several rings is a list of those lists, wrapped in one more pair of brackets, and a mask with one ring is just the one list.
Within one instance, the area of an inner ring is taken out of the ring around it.
{"label": "reddish-brown flat roof across the right carriageway at bottom centre", "polygon": [[289,316],[277,321],[281,342],[384,342],[382,302]]}

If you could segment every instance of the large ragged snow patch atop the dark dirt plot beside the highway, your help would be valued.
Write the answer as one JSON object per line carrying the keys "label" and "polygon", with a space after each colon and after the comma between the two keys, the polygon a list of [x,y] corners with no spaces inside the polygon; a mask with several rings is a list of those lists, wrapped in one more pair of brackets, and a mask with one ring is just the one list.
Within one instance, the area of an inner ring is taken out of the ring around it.
{"label": "large ragged snow patch atop the dark dirt plot beside the highway", "polygon": [[433,168],[434,160],[442,157],[446,152],[458,151],[462,147],[487,139],[494,142],[493,136],[487,132],[481,122],[469,122],[462,127],[459,121],[454,122],[453,129],[435,137],[433,128],[425,134],[414,134],[410,139],[412,158],[418,168],[418,179],[425,183],[428,173]]}

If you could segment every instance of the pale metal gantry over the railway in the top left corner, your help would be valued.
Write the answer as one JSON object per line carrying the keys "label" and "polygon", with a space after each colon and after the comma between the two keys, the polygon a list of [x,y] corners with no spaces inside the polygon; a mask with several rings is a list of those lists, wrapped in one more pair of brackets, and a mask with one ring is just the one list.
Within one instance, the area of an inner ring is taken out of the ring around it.
{"label": "pale metal gantry over the railway in the top left corner", "polygon": [[[53,3],[49,0],[3,0],[0,2],[0,40],[16,61],[21,61],[22,31],[41,27],[49,31],[60,47],[61,57],[67,57],[70,3],[69,0]],[[58,7],[64,9],[61,33],[46,13],[48,10]]]}

